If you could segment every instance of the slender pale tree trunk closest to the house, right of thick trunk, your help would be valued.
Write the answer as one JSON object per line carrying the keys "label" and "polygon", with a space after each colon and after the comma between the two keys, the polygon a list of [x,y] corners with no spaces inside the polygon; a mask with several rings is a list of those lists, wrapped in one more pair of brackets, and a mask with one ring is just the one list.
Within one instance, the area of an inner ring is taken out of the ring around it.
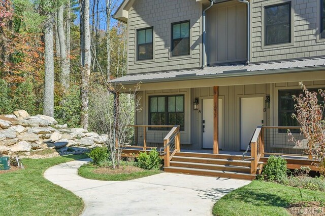
{"label": "slender pale tree trunk closest to the house, right of thick trunk", "polygon": [[111,0],[106,0],[106,53],[107,53],[107,59],[106,59],[106,74],[107,74],[107,81],[111,78],[111,33],[110,33],[110,25],[111,25]]}

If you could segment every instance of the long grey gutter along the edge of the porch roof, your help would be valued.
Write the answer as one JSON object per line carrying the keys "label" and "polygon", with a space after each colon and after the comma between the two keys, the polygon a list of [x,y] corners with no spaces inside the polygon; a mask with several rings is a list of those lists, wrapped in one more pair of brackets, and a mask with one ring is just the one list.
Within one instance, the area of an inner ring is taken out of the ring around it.
{"label": "long grey gutter along the edge of the porch roof", "polygon": [[255,75],[269,75],[269,74],[280,74],[280,73],[296,73],[296,72],[309,72],[309,71],[324,71],[323,66],[314,66],[314,67],[302,67],[302,68],[288,68],[288,69],[270,69],[270,70],[256,70],[256,71],[244,71],[233,70],[233,71],[224,71],[219,74],[209,74],[209,75],[189,75],[189,76],[176,76],[169,78],[157,78],[157,79],[143,79],[143,80],[133,80],[133,81],[114,81],[111,83],[122,83],[126,84],[137,84],[141,83],[154,83],[154,82],[170,82],[170,81],[188,81],[188,80],[199,80],[199,79],[211,79],[211,78],[226,78],[226,77],[241,77],[241,76],[255,76]]}

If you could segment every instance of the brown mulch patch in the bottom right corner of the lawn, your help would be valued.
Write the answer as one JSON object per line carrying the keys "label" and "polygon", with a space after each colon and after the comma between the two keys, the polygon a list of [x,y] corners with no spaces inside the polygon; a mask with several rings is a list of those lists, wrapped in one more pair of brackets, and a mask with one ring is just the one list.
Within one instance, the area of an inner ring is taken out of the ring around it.
{"label": "brown mulch patch in the bottom right corner of the lawn", "polygon": [[298,202],[288,206],[287,209],[291,215],[325,215],[324,204],[320,202]]}

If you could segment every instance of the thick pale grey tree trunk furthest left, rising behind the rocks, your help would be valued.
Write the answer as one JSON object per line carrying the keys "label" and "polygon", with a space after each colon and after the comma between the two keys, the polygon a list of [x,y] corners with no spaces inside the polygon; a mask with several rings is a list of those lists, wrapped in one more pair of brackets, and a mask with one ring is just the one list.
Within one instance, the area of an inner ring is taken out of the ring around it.
{"label": "thick pale grey tree trunk furthest left, rising behind the rocks", "polygon": [[54,116],[54,55],[53,55],[53,17],[47,17],[44,29],[44,57],[45,57],[45,77],[44,77],[44,104],[43,114]]}

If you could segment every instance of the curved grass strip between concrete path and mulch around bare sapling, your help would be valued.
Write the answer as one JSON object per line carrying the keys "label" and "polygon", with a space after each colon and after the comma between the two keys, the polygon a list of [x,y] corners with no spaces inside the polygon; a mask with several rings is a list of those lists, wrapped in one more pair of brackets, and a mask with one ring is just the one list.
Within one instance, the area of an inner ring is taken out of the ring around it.
{"label": "curved grass strip between concrete path and mulch around bare sapling", "polygon": [[102,181],[126,181],[152,176],[161,172],[160,170],[144,169],[143,171],[132,172],[131,174],[96,174],[93,172],[95,169],[96,166],[85,164],[78,169],[78,174],[86,179],[95,179]]}

